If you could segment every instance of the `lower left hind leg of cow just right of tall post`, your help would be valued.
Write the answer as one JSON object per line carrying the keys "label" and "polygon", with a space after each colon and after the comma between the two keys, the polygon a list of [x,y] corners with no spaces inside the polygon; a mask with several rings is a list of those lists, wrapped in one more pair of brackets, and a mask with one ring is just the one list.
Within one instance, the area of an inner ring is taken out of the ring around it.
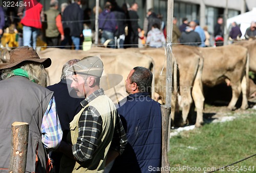
{"label": "lower left hind leg of cow just right of tall post", "polygon": [[187,123],[187,116],[189,113],[189,109],[191,104],[193,103],[193,99],[191,96],[191,87],[180,87],[180,95],[181,95],[181,107],[182,107],[182,120],[183,126]]}

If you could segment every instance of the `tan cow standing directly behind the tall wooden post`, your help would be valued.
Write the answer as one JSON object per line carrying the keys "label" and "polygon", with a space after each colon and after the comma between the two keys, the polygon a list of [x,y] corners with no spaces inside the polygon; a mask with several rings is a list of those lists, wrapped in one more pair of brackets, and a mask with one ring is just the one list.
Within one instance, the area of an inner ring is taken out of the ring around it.
{"label": "tan cow standing directly behind the tall wooden post", "polygon": [[[165,102],[165,68],[160,75],[161,69],[164,65],[164,48],[151,48],[146,50],[140,50],[141,53],[149,55],[154,59],[155,69],[156,69],[156,92],[159,92],[163,97],[163,102]],[[204,96],[202,88],[202,68],[203,59],[197,49],[193,50],[190,46],[177,45],[173,47],[173,57],[177,61],[178,67],[173,67],[179,69],[179,93],[181,97],[182,107],[182,126],[187,121],[187,116],[189,109],[193,100],[197,108],[197,120],[196,127],[201,127],[203,124],[203,105]],[[174,96],[178,92],[174,88]],[[192,98],[193,97],[193,98]],[[176,98],[172,97],[172,103],[175,103]],[[172,119],[174,120],[174,110],[175,105],[172,104]]]}

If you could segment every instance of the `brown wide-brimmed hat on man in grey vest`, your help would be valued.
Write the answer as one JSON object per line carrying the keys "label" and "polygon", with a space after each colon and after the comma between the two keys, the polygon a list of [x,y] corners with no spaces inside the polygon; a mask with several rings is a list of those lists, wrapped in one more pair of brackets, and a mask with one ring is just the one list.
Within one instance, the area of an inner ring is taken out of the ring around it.
{"label": "brown wide-brimmed hat on man in grey vest", "polygon": [[22,62],[37,62],[44,68],[49,67],[52,63],[50,58],[40,58],[33,47],[23,46],[11,50],[9,63],[0,64],[0,69],[11,68]]}

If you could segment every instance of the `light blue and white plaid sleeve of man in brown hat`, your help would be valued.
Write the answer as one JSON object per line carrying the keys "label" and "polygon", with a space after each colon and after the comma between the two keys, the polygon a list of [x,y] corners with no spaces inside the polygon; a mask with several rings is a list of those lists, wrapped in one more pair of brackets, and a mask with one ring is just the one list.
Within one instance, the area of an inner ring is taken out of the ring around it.
{"label": "light blue and white plaid sleeve of man in brown hat", "polygon": [[60,144],[63,133],[56,111],[54,96],[52,96],[44,117],[42,117],[41,133],[41,141],[46,149],[56,148]]}

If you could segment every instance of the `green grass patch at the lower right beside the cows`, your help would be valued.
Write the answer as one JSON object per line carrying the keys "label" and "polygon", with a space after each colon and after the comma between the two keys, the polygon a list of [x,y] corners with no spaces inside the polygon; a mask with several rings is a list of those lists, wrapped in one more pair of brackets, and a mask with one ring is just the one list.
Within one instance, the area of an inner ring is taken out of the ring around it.
{"label": "green grass patch at the lower right beside the cows", "polygon": [[[250,113],[172,137],[168,152],[170,172],[204,172],[203,168],[210,171],[256,154],[255,128],[256,114]],[[251,170],[244,169],[249,166]],[[228,171],[231,168],[233,171]],[[256,156],[217,172],[256,172]]]}

